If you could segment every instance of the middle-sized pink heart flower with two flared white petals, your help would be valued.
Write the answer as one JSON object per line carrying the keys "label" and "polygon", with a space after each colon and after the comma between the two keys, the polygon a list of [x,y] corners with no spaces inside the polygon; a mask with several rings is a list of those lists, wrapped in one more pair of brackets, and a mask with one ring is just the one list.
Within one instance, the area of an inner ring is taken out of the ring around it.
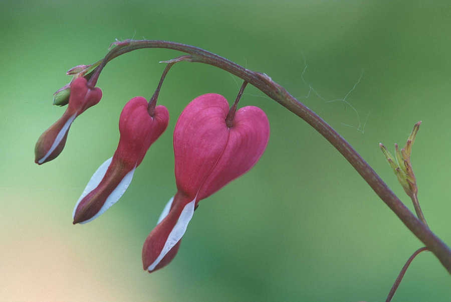
{"label": "middle-sized pink heart flower with two flared white petals", "polygon": [[72,215],[74,224],[94,220],[121,198],[147,149],[166,129],[169,122],[166,107],[156,106],[150,116],[147,105],[141,96],[125,105],[119,119],[116,152],[94,173],[83,191]]}

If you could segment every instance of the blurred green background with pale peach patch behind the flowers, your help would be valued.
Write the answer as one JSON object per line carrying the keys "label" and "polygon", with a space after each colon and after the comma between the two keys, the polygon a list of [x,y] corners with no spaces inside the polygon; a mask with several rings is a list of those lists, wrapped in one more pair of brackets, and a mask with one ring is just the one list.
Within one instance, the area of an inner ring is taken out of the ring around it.
{"label": "blurred green background with pale peach patch behind the flowers", "polygon": [[[72,225],[72,210],[117,146],[123,105],[150,98],[158,62],[180,53],[113,60],[98,82],[102,101],[77,118],[60,157],[38,166],[34,145],[65,110],[52,94],[71,67],[101,59],[115,39],[190,44],[300,97],[410,209],[379,142],[392,150],[422,120],[412,155],[419,200],[451,244],[450,37],[446,1],[2,1],[0,301],[385,300],[421,243],[322,136],[254,87],[241,106],[267,112],[266,153],[200,203],[170,265],[142,270],[142,243],[175,193],[177,116],[204,93],[234,100],[241,81],[222,70],[172,68],[159,98],[167,131],[122,199],[89,224]],[[451,300],[451,278],[431,253],[414,260],[393,301],[407,300]]]}

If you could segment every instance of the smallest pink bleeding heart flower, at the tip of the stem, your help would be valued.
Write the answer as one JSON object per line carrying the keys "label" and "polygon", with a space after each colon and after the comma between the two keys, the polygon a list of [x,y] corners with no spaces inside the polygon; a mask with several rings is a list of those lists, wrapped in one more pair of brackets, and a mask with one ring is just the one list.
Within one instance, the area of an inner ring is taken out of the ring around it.
{"label": "smallest pink bleeding heart flower, at the tip of the stem", "polygon": [[42,133],[36,143],[35,163],[38,165],[50,162],[60,155],[72,122],[102,98],[102,90],[89,88],[83,77],[74,80],[70,89],[69,105],[63,116]]}

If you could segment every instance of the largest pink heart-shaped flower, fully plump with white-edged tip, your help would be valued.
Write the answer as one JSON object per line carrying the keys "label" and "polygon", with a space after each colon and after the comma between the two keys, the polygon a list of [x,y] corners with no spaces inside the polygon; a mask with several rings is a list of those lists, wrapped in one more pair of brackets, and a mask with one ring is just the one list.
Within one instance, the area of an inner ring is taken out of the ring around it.
{"label": "largest pink heart-shaped flower, fully plump with white-edged tip", "polygon": [[228,113],[227,100],[213,93],[195,98],[181,113],[174,129],[177,193],[144,242],[145,270],[168,264],[198,202],[248,172],[265,151],[270,128],[263,110],[241,108],[231,127]]}

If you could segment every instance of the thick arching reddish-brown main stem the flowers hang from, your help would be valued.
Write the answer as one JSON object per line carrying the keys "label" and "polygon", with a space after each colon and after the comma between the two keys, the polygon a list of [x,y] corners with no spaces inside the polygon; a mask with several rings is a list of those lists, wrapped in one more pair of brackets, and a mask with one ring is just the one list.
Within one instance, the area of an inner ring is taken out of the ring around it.
{"label": "thick arching reddish-brown main stem the flowers hang from", "polygon": [[380,199],[401,219],[405,226],[424,243],[428,250],[435,254],[446,270],[451,273],[451,250],[449,247],[410,212],[368,163],[363,160],[356,150],[337,131],[315,112],[299,102],[282,86],[274,82],[269,76],[248,70],[232,61],[190,45],[155,40],[126,40],[114,43],[114,45],[115,47],[105,56],[89,80],[88,85],[90,87],[95,86],[100,72],[109,61],[122,54],[141,48],[166,48],[181,51],[191,55],[185,61],[209,64],[242,78],[301,117],[323,135],[345,157],[352,167],[354,167]]}

